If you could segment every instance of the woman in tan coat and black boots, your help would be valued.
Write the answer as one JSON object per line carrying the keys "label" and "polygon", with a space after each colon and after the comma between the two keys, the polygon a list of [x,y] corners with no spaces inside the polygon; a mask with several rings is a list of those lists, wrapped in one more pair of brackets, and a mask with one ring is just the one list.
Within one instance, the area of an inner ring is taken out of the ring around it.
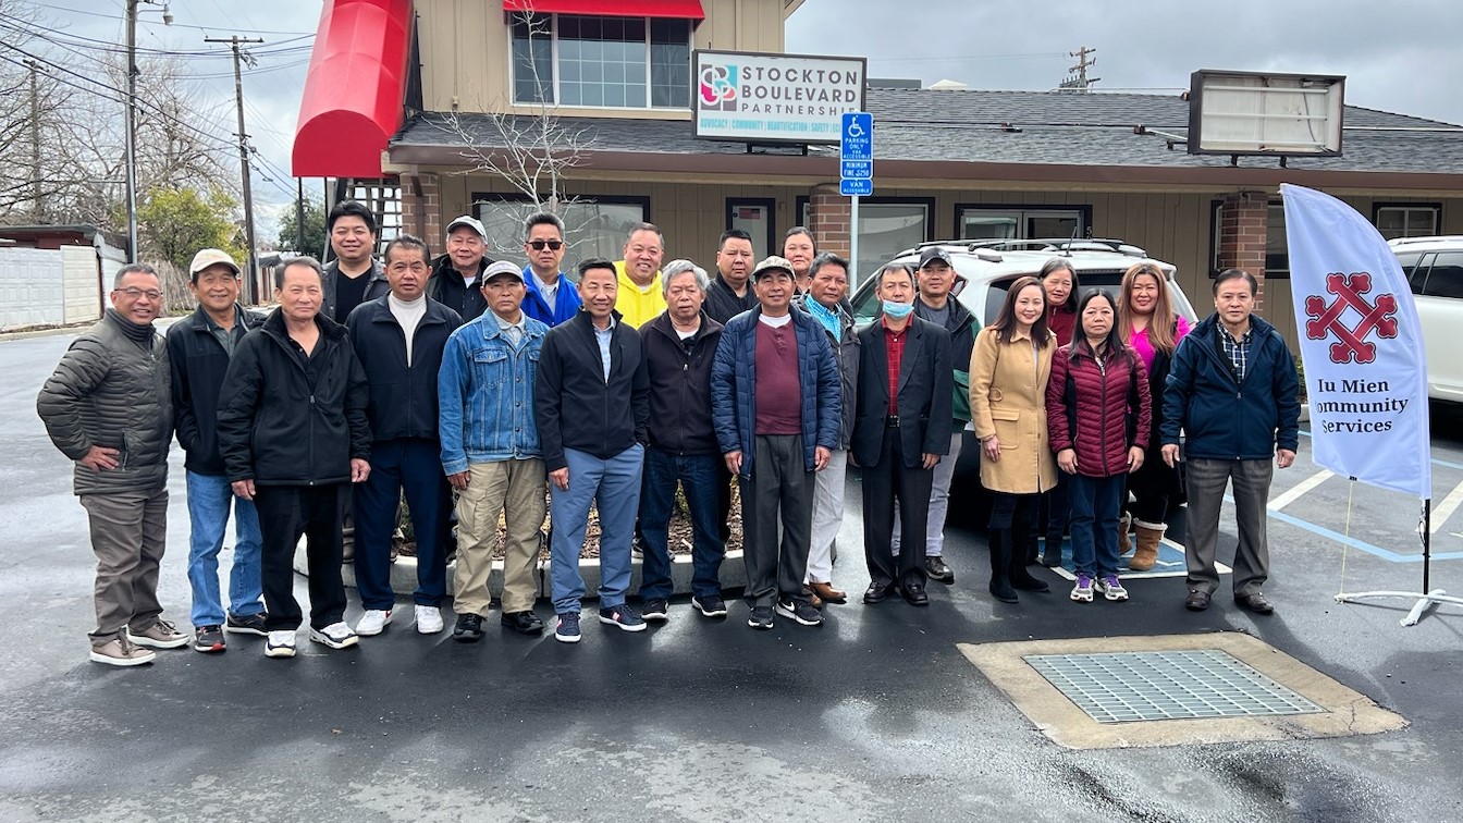
{"label": "woman in tan coat and black boots", "polygon": [[1046,433],[1046,381],[1056,338],[1046,327],[1042,281],[1011,284],[993,324],[970,354],[970,414],[980,438],[980,483],[990,489],[990,595],[1017,602],[1015,589],[1046,592],[1026,570],[1026,536],[1042,492],[1056,485]]}

